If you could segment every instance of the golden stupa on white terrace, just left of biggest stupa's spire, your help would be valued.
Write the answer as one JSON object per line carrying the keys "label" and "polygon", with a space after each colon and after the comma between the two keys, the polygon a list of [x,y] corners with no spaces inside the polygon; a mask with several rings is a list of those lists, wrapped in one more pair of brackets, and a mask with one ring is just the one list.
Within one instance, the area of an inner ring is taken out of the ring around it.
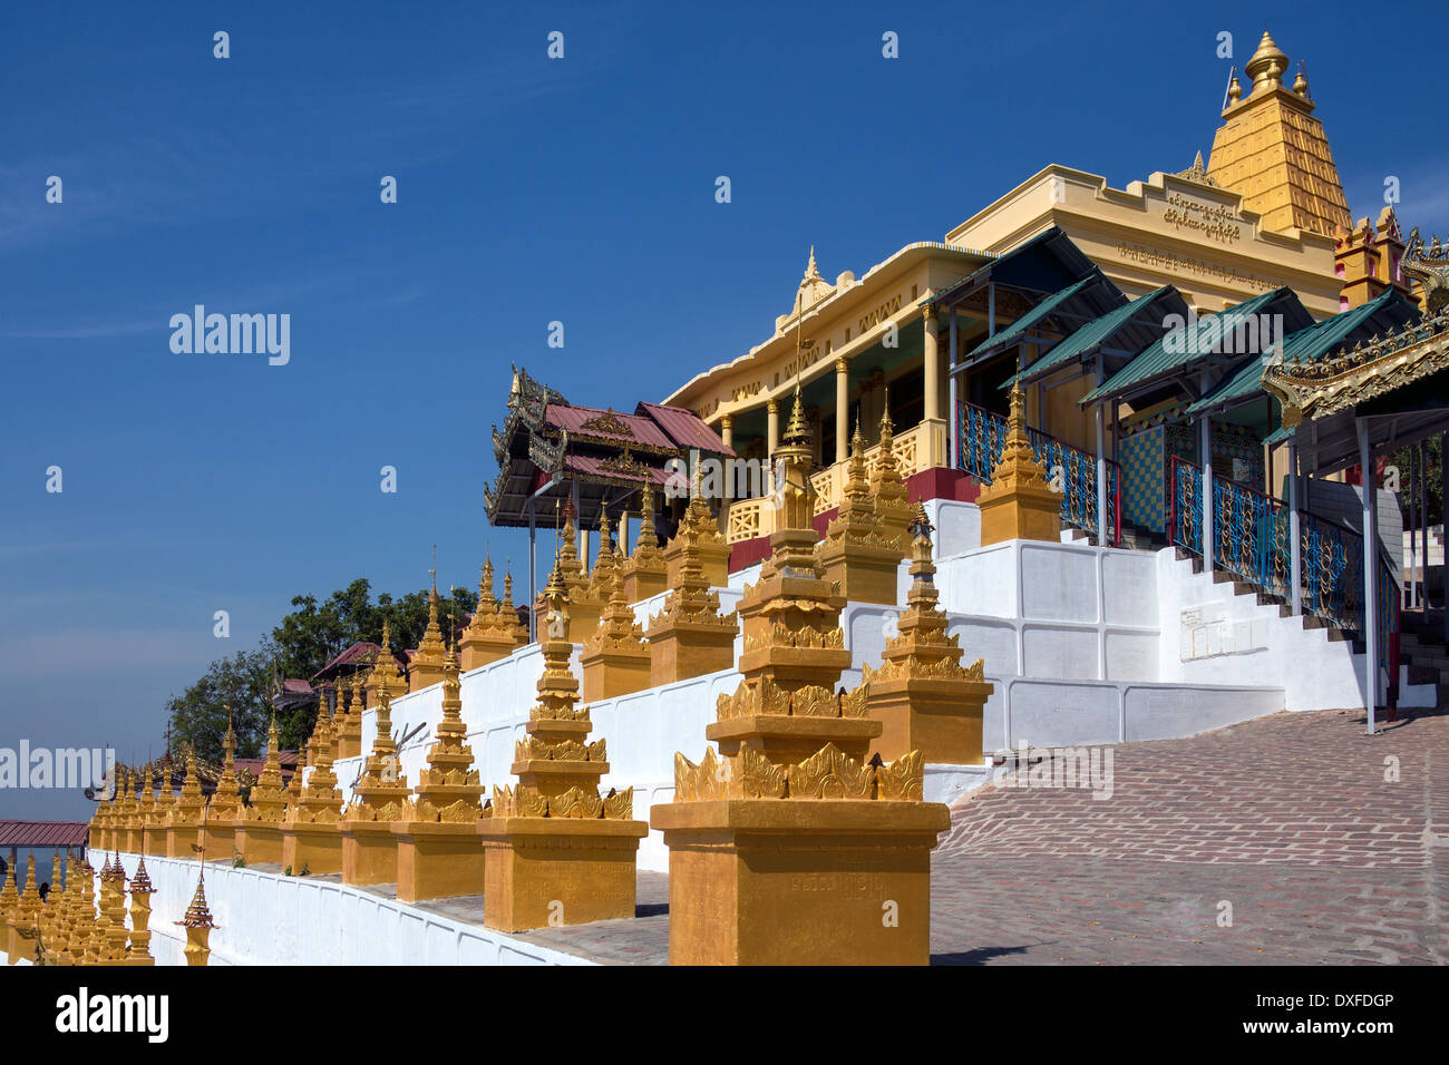
{"label": "golden stupa on white terrace, just left of biggest stupa's spire", "polygon": [[720,596],[710,587],[700,564],[696,529],[681,523],[675,540],[681,551],[678,582],[665,598],[664,610],[649,619],[645,632],[651,685],[703,677],[735,665],[739,617],[733,610],[720,613]]}

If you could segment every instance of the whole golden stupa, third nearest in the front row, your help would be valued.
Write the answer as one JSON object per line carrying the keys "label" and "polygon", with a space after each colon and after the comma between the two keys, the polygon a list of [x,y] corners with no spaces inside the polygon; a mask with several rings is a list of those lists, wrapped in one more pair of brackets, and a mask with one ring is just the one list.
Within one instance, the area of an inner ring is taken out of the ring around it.
{"label": "whole golden stupa, third nearest in the front row", "polygon": [[449,648],[443,659],[443,716],[427,749],[417,797],[404,803],[403,820],[393,824],[401,901],[483,894],[481,794],[462,722],[458,655]]}

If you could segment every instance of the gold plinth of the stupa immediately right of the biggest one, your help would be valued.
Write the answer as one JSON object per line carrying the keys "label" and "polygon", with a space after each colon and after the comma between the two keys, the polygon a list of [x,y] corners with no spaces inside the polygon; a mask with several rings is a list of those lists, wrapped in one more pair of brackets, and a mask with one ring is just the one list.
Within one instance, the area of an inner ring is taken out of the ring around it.
{"label": "gold plinth of the stupa immediately right of the biggest one", "polygon": [[881,735],[871,752],[885,762],[920,751],[930,764],[981,765],[981,711],[994,688],[985,681],[872,680],[867,707]]}

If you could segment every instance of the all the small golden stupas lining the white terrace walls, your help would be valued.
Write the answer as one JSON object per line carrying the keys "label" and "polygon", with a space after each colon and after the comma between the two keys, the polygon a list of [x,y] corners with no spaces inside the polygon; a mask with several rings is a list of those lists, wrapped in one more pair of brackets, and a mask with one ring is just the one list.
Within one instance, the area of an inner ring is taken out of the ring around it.
{"label": "all the small golden stupas lining the white terrace walls", "polygon": [[[946,635],[932,526],[924,509],[909,503],[888,419],[881,436],[869,469],[856,426],[840,511],[820,539],[809,427],[796,397],[775,454],[782,514],[771,555],[727,614],[714,588],[726,582],[729,548],[697,483],[667,548],[653,535],[648,493],[630,555],[613,548],[604,517],[591,572],[568,522],[538,604],[543,672],[516,746],[516,780],[493,785],[487,798],[461,717],[459,672],[527,640],[517,614],[493,597],[488,564],[472,622],[451,646],[438,626],[436,587],[430,598],[413,687],[436,682],[436,672],[442,719],[416,787],[400,769],[391,735],[393,693],[406,681],[384,626],[383,652],[365,680],[354,680],[351,704],[342,687],[332,711],[322,700],[306,778],[298,762],[290,788],[283,787],[274,720],[265,765],[243,803],[229,727],[225,771],[209,804],[194,756],[180,795],[170,788],[156,795],[154,785],[148,794],[141,780],[126,778],[114,801],[99,804],[91,848],[271,862],[294,875],[341,872],[346,884],[396,884],[409,903],[481,893],[484,922],[503,932],[632,917],[635,856],[649,824],[633,817],[632,788],[600,794],[609,761],[604,739],[590,738],[588,703],[738,668],[743,680],[719,698],[704,736],[717,753],[707,749],[698,764],[677,755],[674,801],[651,811],[669,848],[671,962],[926,962],[930,851],[949,813],[923,801],[924,764],[981,762],[981,710],[991,685],[982,662],[964,667],[958,638]],[[1020,393],[981,506],[984,526],[1001,538],[1048,525],[1055,532],[1059,497],[1026,445]],[[881,667],[867,667],[862,684],[846,691],[838,687],[851,665],[840,611],[846,600],[897,604],[903,558],[913,582],[898,635],[887,640]],[[636,623],[629,604],[665,591],[664,609],[648,626]],[[582,685],[569,668],[575,642],[582,643]],[[377,739],[343,804],[333,762],[359,753],[365,698],[375,704]],[[12,952],[23,952],[28,930],[38,927],[48,951],[61,945],[57,961],[143,962],[143,865],[129,893],[136,929],[129,946],[119,858],[107,869],[94,929],[78,916],[94,906],[88,875],[59,895],[54,919],[38,911],[30,884],[17,895],[12,878],[0,893]],[[210,917],[200,882],[197,900],[183,923],[188,961],[204,964]]]}

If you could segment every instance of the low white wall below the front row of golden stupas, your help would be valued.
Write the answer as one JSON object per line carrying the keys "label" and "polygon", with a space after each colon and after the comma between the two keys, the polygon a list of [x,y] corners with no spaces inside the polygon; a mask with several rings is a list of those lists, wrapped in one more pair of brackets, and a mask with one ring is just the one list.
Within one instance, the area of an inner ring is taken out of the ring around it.
{"label": "low white wall below the front row of golden stupas", "polygon": [[[139,859],[120,855],[126,875]],[[94,864],[94,862],[93,862]],[[146,856],[151,955],[158,965],[185,964],[185,914],[199,864]],[[100,891],[100,878],[96,880]],[[216,922],[209,965],[588,965],[361,888],[310,877],[283,877],[229,864],[206,866],[206,901]],[[128,917],[129,926],[129,917]]]}

